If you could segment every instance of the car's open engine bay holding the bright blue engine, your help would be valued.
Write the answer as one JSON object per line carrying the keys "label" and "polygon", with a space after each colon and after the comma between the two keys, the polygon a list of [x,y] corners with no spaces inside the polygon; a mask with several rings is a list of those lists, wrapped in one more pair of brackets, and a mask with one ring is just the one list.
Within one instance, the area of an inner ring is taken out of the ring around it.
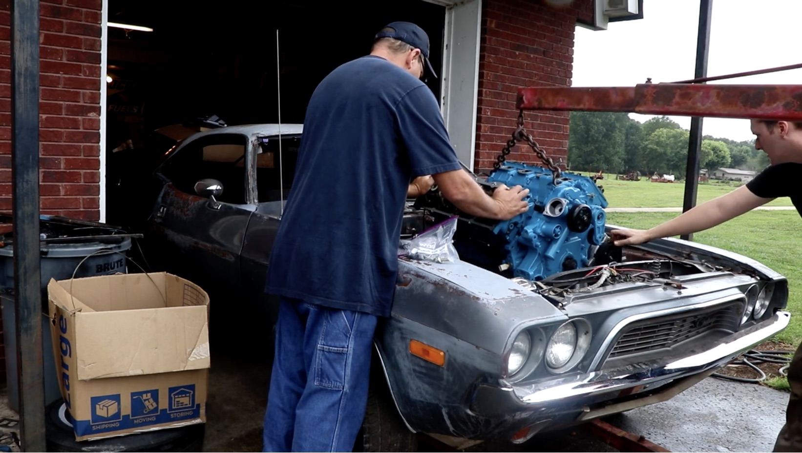
{"label": "car's open engine bay holding the bright blue engine", "polygon": [[699,266],[670,257],[633,256],[606,234],[607,200],[593,180],[532,164],[506,162],[476,182],[491,195],[499,184],[529,188],[529,210],[511,220],[471,216],[439,188],[407,203],[402,239],[457,216],[453,245],[461,261],[533,285],[553,297],[626,281],[670,281],[701,273]]}

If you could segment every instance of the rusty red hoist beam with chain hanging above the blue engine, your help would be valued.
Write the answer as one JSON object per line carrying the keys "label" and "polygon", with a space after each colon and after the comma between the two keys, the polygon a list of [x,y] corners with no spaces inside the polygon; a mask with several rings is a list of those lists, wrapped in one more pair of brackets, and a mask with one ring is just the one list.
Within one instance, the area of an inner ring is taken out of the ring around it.
{"label": "rusty red hoist beam with chain hanging above the blue engine", "polygon": [[519,88],[516,107],[802,121],[802,85],[642,83],[635,87]]}

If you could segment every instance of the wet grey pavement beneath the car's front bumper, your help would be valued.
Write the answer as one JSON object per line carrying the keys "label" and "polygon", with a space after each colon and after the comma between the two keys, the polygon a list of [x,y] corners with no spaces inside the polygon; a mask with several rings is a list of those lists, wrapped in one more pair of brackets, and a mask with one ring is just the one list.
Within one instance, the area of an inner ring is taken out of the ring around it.
{"label": "wet grey pavement beneath the car's front bumper", "polygon": [[[604,421],[668,451],[772,451],[788,392],[754,383],[707,378],[666,402]],[[518,446],[484,443],[466,451],[618,451],[580,427],[535,436]]]}

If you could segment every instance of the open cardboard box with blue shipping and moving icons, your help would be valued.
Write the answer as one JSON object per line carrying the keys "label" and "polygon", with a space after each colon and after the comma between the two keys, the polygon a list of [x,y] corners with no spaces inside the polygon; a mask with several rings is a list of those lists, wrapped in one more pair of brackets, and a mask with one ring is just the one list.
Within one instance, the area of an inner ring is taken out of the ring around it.
{"label": "open cardboard box with blue shipping and moving icons", "polygon": [[209,295],[169,273],[47,285],[56,373],[76,440],[205,423]]}

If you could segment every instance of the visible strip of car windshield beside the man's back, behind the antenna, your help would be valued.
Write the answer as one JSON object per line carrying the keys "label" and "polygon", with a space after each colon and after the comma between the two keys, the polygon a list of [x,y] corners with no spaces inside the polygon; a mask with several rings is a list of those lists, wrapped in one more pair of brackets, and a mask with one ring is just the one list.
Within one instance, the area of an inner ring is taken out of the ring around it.
{"label": "visible strip of car windshield beside the man's back, behind the antenna", "polygon": [[[279,147],[281,144],[281,147]],[[301,145],[300,135],[265,137],[261,139],[257,156],[256,181],[258,200],[267,201],[287,199],[295,176],[295,164],[298,162],[298,147]],[[283,188],[283,191],[282,191]],[[283,192],[283,193],[282,193]]]}

